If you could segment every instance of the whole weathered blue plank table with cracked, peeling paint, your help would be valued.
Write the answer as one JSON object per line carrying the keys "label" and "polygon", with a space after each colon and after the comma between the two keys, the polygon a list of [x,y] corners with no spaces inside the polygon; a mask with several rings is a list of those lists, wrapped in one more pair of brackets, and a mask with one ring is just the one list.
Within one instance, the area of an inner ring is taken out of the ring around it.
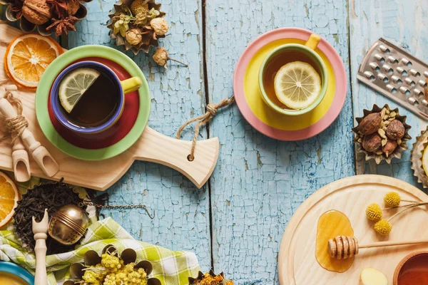
{"label": "whole weathered blue plank table with cracked, peeling paint", "polygon": [[[88,16],[69,33],[68,48],[91,43],[113,46],[106,21],[114,0],[92,1]],[[307,28],[337,49],[349,75],[342,113],[315,138],[282,142],[261,135],[233,105],[216,115],[200,139],[218,136],[220,157],[200,190],[168,167],[136,162],[108,190],[111,204],[141,202],[156,210],[105,210],[136,239],[198,255],[203,271],[225,271],[235,284],[278,284],[277,252],[293,212],[329,182],[362,173],[390,175],[417,185],[409,150],[402,160],[379,166],[355,156],[351,128],[363,108],[396,103],[357,82],[362,58],[384,36],[428,61],[428,1],[425,0],[162,0],[170,23],[161,45],[188,68],[156,66],[131,56],[148,78],[149,125],[174,136],[205,105],[233,95],[235,63],[254,38],[279,27]],[[408,143],[427,123],[400,107],[412,125]],[[193,129],[185,132],[190,140]],[[418,185],[420,187],[420,185]]]}

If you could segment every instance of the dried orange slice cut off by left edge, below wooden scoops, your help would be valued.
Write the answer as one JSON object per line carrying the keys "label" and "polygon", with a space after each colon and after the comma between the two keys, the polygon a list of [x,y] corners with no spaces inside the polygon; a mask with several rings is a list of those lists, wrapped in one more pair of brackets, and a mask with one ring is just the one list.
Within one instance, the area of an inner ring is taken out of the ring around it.
{"label": "dried orange slice cut off by left edge, below wooden scoops", "polygon": [[0,172],[0,228],[14,216],[14,209],[18,205],[19,197],[15,182]]}

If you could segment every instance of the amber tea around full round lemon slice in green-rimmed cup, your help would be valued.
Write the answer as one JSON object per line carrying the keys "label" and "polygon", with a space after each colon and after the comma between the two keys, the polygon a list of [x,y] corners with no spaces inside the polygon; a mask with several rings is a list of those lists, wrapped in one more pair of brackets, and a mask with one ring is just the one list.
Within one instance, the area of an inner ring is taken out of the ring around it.
{"label": "amber tea around full round lemon slice in green-rimmed cup", "polygon": [[276,73],[285,66],[287,63],[291,63],[294,61],[302,61],[305,63],[309,63],[318,74],[321,74],[320,68],[317,66],[317,63],[307,56],[305,53],[300,51],[284,51],[282,53],[277,54],[276,56],[270,58],[270,61],[265,66],[265,70],[263,72],[263,86],[265,87],[265,92],[267,97],[270,98],[272,103],[279,106],[282,109],[290,110],[286,105],[282,104],[280,100],[278,100],[275,94],[275,76]]}

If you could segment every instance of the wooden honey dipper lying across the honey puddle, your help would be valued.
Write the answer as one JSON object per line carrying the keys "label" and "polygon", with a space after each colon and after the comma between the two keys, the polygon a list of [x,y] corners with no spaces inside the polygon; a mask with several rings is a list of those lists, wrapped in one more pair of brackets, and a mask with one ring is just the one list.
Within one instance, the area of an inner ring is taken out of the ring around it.
{"label": "wooden honey dipper lying across the honey puddle", "polygon": [[330,257],[335,259],[347,259],[355,257],[360,249],[370,249],[372,247],[393,247],[397,245],[409,245],[409,244],[424,244],[428,243],[428,240],[415,240],[405,242],[373,242],[372,244],[358,244],[356,237],[345,237],[337,236],[334,239],[328,241],[328,252]]}

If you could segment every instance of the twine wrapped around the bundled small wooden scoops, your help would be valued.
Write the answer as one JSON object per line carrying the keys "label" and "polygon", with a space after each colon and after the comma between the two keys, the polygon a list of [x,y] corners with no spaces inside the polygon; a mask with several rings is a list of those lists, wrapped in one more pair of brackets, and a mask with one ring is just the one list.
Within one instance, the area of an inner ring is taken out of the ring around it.
{"label": "twine wrapped around the bundled small wooden scoops", "polygon": [[14,143],[19,137],[21,137],[24,130],[29,126],[29,122],[22,115],[21,100],[15,98],[14,94],[10,90],[6,90],[4,99],[8,100],[9,103],[14,106],[18,115],[15,118],[6,118],[1,115],[0,118],[4,120],[4,126],[6,127],[8,134],[4,135],[3,137],[0,137],[0,141],[11,137],[12,143]]}

